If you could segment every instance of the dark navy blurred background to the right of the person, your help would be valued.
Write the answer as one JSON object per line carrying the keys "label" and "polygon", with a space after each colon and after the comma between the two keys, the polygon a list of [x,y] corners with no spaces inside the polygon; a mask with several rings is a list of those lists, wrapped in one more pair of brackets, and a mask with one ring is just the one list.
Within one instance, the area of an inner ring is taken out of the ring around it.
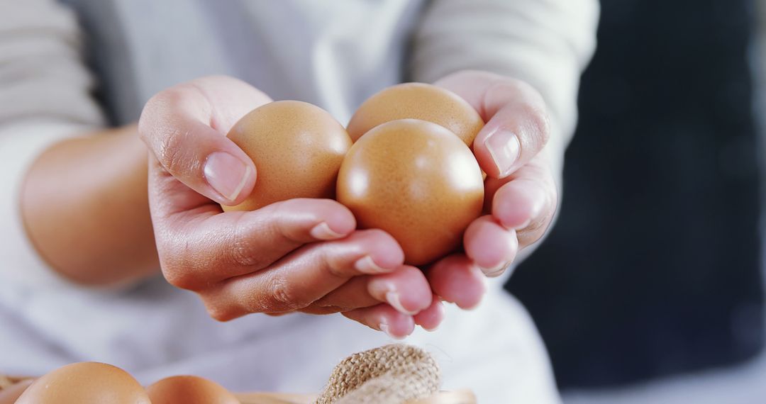
{"label": "dark navy blurred background to the right of the person", "polygon": [[555,230],[507,288],[561,389],[740,363],[764,345],[742,0],[602,0]]}

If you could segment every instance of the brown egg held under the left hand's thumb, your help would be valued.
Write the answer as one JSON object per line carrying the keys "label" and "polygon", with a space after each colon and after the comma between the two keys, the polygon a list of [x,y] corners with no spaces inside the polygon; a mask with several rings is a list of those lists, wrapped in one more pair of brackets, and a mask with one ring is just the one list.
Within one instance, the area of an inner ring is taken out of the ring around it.
{"label": "brown egg held under the left hand's thumb", "polygon": [[296,197],[332,198],[349,134],[328,112],[300,101],[260,106],[237,122],[228,137],[255,162],[253,192],[229,210],[256,210]]}

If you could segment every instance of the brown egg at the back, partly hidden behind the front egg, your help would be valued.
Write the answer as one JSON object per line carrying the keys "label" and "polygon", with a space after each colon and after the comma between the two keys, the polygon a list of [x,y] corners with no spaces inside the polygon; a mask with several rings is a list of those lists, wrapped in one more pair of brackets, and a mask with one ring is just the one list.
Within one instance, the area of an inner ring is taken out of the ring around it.
{"label": "brown egg at the back, partly hidden behind the front egg", "polygon": [[349,122],[349,136],[356,142],[381,123],[405,118],[442,125],[469,147],[484,127],[479,112],[450,90],[425,83],[404,83],[388,87],[362,103]]}

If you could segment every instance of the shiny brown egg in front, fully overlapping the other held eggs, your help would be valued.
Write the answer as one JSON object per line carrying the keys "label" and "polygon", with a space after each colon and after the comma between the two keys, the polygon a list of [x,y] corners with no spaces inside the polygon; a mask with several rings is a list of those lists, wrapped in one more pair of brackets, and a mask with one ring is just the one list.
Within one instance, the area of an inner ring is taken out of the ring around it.
{"label": "shiny brown egg in front, fully overlapping the other held eggs", "polygon": [[391,233],[405,261],[422,265],[455,249],[479,217],[481,170],[443,126],[418,119],[378,125],[356,142],[338,176],[338,200],[359,225]]}

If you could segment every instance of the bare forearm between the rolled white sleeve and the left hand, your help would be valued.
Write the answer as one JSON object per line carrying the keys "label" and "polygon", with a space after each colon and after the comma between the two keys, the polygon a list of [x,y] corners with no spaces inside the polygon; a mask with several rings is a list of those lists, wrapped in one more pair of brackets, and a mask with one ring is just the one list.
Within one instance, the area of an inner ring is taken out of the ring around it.
{"label": "bare forearm between the rolled white sleeve and the left hand", "polygon": [[128,126],[70,138],[34,161],[21,191],[29,239],[54,271],[111,285],[157,271],[146,148]]}

